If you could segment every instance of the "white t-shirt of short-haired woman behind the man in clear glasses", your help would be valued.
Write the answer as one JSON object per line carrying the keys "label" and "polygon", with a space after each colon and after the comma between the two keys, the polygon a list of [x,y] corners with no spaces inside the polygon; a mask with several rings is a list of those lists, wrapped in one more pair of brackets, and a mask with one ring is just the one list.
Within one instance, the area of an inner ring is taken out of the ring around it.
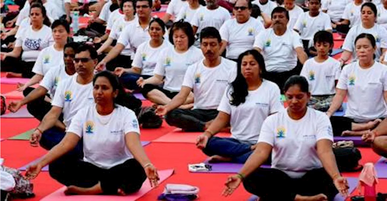
{"label": "white t-shirt of short-haired woman behind the man in clear glasses", "polygon": [[[125,16],[116,19],[116,21],[113,24],[113,28],[110,31],[109,37],[111,37],[114,40],[117,40],[126,26],[138,20],[139,19],[135,17],[133,20],[125,21]],[[132,56],[132,57],[134,56],[134,51],[130,49],[130,44],[125,46],[125,48],[121,51],[120,55]]]}

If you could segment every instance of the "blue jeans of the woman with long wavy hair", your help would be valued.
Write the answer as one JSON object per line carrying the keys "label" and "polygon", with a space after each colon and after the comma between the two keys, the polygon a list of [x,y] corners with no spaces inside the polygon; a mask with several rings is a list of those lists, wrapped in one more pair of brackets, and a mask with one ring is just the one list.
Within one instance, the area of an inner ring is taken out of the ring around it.
{"label": "blue jeans of the woman with long wavy hair", "polygon": [[203,152],[207,156],[219,155],[231,158],[233,163],[244,164],[253,150],[250,144],[234,138],[212,137],[208,140]]}

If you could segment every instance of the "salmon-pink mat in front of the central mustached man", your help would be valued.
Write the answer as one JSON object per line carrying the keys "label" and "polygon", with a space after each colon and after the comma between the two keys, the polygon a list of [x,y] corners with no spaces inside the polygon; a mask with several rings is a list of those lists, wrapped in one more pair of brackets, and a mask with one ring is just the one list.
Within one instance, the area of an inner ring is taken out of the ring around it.
{"label": "salmon-pink mat in front of the central mustached man", "polygon": [[[183,132],[182,129],[176,128],[175,130],[153,140],[152,142],[175,142],[175,143],[196,143],[197,136],[201,135],[201,132]],[[230,133],[218,133],[217,137],[227,138],[230,137]]]}

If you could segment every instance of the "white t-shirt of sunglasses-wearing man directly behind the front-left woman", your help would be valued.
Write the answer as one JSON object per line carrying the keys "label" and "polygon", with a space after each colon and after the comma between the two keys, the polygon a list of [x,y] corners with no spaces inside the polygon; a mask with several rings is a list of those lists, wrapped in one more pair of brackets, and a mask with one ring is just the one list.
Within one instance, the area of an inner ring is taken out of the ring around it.
{"label": "white t-shirt of sunglasses-wearing man directly behind the front-left woman", "polygon": [[63,123],[66,128],[77,112],[94,103],[93,83],[81,85],[77,82],[77,73],[59,83],[51,102],[52,106],[62,108]]}

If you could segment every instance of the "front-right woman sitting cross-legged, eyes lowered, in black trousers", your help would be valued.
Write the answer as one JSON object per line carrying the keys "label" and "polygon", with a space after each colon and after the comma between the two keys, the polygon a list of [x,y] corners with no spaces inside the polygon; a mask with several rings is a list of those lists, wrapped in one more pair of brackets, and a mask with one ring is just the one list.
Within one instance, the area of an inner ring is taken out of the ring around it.
{"label": "front-right woman sitting cross-legged, eyes lowered, in black trousers", "polygon": [[[331,201],[337,192],[348,196],[348,181],[340,175],[332,150],[332,126],[323,112],[307,107],[308,88],[305,77],[293,75],[286,81],[289,107],[264,121],[257,147],[240,172],[228,177],[223,195],[243,182],[260,201]],[[261,168],[269,157],[271,168]]]}

